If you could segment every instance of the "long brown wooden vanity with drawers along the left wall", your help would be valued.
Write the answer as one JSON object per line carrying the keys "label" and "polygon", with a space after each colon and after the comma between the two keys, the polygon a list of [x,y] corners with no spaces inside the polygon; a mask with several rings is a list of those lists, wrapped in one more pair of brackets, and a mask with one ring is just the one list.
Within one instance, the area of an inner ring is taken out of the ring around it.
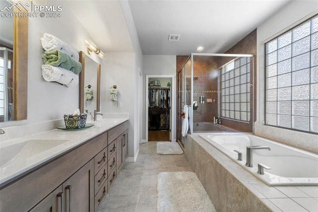
{"label": "long brown wooden vanity with drawers along the left wall", "polygon": [[0,211],[97,211],[128,156],[128,121],[107,124],[95,123],[95,129],[77,131],[78,136],[74,131],[49,131],[47,136],[70,138],[59,145],[66,150],[1,179]]}

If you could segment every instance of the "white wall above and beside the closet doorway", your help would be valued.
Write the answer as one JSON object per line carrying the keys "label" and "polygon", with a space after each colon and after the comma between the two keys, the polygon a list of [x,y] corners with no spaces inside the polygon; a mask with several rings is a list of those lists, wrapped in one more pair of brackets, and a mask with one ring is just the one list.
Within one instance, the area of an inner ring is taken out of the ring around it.
{"label": "white wall above and beside the closet doorway", "polygon": [[[144,98],[143,105],[146,105],[146,98],[148,98],[148,94],[146,94],[146,75],[172,75],[174,76],[174,81],[171,82],[171,85],[176,83],[176,56],[175,55],[144,55],[143,57],[143,85],[144,85]],[[176,97],[174,98],[174,102],[176,102]],[[176,104],[175,104],[176,105]],[[172,108],[172,110],[176,111],[176,106]],[[148,120],[148,117],[147,117]],[[175,117],[171,119],[172,126],[175,129]],[[172,135],[172,139],[175,140],[175,132]],[[146,139],[146,108],[143,108],[143,139]]]}

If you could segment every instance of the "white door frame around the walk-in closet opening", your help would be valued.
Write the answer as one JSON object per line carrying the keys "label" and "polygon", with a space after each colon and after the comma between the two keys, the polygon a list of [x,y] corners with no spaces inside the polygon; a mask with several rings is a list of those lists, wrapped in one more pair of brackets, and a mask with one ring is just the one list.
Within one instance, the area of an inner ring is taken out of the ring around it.
{"label": "white door frame around the walk-in closet opening", "polygon": [[170,78],[171,80],[171,90],[170,90],[170,141],[175,141],[173,139],[174,128],[175,128],[175,101],[176,101],[176,85],[175,85],[175,76],[174,75],[146,75],[146,84],[145,84],[145,131],[146,131],[146,142],[148,142],[148,84],[149,78]]}

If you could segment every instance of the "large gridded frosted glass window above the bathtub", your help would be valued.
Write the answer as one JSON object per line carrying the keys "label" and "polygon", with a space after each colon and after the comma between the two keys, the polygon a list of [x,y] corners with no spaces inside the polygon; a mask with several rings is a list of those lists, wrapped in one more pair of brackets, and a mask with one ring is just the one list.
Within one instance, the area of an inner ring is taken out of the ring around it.
{"label": "large gridded frosted glass window above the bathtub", "polygon": [[318,133],[318,15],[266,43],[266,124]]}

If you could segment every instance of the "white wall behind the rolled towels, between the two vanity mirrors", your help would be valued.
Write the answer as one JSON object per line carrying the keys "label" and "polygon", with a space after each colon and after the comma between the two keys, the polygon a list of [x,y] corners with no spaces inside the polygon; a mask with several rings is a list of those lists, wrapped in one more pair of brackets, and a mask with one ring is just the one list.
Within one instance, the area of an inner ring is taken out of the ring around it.
{"label": "white wall behind the rolled towels, between the two vanity mirrors", "polygon": [[[54,1],[48,0],[48,5]],[[73,112],[79,107],[79,86],[68,88],[57,83],[46,82],[42,77],[43,65],[40,38],[50,33],[68,43],[77,51],[86,53],[85,39],[93,38],[79,23],[67,7],[63,7],[61,17],[30,17],[28,25],[28,114],[27,120],[8,121],[1,127],[62,119],[64,112]],[[100,63],[94,55],[93,60]]]}

